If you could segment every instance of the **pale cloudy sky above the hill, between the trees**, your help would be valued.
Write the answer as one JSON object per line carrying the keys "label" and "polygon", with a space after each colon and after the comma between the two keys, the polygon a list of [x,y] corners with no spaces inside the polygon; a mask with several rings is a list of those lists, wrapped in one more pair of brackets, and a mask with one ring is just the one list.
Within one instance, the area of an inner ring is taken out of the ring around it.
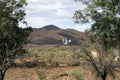
{"label": "pale cloudy sky above the hill, between the trees", "polygon": [[45,25],[56,25],[63,29],[76,29],[84,31],[89,24],[76,24],[72,17],[75,10],[83,9],[80,2],[74,0],[27,0],[26,21],[33,28],[41,28]]}

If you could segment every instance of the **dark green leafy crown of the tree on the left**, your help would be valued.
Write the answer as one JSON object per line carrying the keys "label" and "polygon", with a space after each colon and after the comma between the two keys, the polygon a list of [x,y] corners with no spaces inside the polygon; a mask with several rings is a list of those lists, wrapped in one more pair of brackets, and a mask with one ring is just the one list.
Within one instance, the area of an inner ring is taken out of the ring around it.
{"label": "dark green leafy crown of the tree on the left", "polygon": [[19,27],[25,16],[24,0],[2,0],[0,3],[0,54],[5,54],[6,50],[17,49],[26,41],[30,28]]}

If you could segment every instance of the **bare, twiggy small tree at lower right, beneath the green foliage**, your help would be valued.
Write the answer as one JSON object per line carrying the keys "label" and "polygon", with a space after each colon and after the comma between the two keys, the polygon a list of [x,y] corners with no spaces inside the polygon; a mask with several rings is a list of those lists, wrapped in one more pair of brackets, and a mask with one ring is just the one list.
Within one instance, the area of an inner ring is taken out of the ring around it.
{"label": "bare, twiggy small tree at lower right, beneath the green foliage", "polygon": [[117,68],[120,67],[120,59],[116,60],[117,56],[113,50],[109,50],[109,55],[100,47],[95,48],[97,57],[94,57],[89,50],[82,49],[80,57],[85,60],[90,70],[92,70],[97,80],[106,80],[109,75],[113,79],[117,76],[115,72],[120,72]]}

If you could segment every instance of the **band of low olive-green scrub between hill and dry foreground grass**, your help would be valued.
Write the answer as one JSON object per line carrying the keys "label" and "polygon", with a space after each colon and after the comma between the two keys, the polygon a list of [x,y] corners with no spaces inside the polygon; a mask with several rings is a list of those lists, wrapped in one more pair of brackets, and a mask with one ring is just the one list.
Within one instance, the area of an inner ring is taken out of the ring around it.
{"label": "band of low olive-green scrub between hill and dry foreground grass", "polygon": [[[41,66],[78,66],[80,65],[79,46],[45,46],[28,48],[29,56],[37,59]],[[37,55],[37,56],[36,56]]]}

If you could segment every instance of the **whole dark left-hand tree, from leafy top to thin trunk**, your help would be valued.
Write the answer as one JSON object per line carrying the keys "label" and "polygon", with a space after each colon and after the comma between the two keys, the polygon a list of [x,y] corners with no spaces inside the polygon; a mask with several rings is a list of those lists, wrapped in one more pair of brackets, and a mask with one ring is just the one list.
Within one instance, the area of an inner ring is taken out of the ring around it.
{"label": "whole dark left-hand tree, from leafy top to thin trunk", "polygon": [[25,0],[0,0],[0,80],[15,58],[24,53],[31,28],[20,28],[19,23],[24,20]]}

